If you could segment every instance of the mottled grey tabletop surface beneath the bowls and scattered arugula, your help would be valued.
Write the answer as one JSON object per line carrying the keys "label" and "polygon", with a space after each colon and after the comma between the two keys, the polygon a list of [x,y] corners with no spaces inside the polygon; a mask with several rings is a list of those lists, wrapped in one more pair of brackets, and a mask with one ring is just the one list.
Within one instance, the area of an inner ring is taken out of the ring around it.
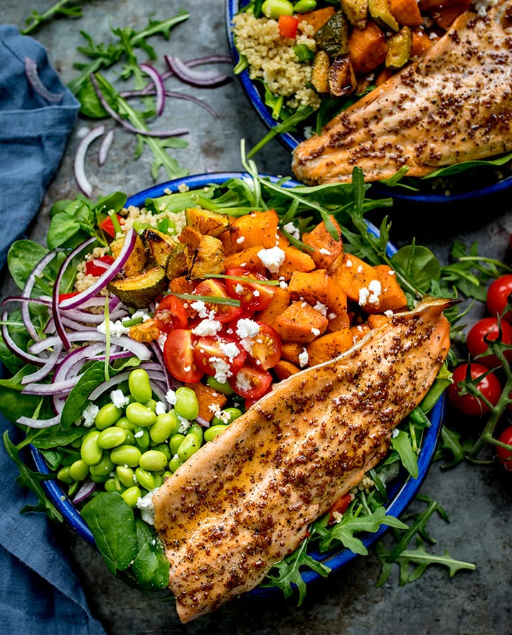
{"label": "mottled grey tabletop surface beneath the bowls and scattered arugula", "polygon": [[[50,1],[2,0],[1,19],[23,26],[31,9],[43,12]],[[171,32],[169,41],[155,38],[159,55],[157,68],[163,70],[162,55],[197,58],[212,53],[228,53],[224,6],[220,0],[90,0],[83,4],[83,17],[59,19],[43,26],[34,36],[48,49],[48,55],[64,81],[75,75],[73,63],[80,60],[76,47],[83,44],[80,30],[95,41],[108,41],[110,27],[142,28],[147,18],[163,19],[181,7],[190,11],[188,21]],[[144,60],[143,56],[141,60]],[[223,66],[228,70],[229,66]],[[190,127],[187,149],[174,152],[176,159],[192,174],[241,169],[240,139],[252,147],[266,130],[248,104],[238,81],[215,90],[191,90],[177,82],[175,90],[193,92],[206,98],[218,112],[213,119],[189,102],[175,101],[158,122],[158,127]],[[53,201],[74,198],[73,156],[84,129],[95,122],[80,119],[73,131],[60,170],[50,185],[31,235],[42,238],[48,226],[48,210]],[[87,174],[95,196],[114,189],[135,193],[153,184],[151,156],[134,160],[135,142],[119,127],[107,162],[97,166],[95,154],[87,158]],[[290,156],[277,141],[256,156],[260,171],[290,174]],[[161,172],[159,182],[166,177]],[[467,202],[461,206],[398,206],[385,210],[393,220],[392,239],[427,244],[446,260],[454,239],[478,240],[481,253],[504,258],[512,232],[510,201],[501,199]],[[449,422],[454,414],[448,413]],[[457,425],[474,425],[458,421]],[[450,579],[447,570],[430,567],[414,583],[398,584],[398,567],[383,587],[376,587],[380,567],[373,553],[358,557],[327,580],[313,585],[301,607],[280,597],[272,601],[242,598],[215,614],[183,625],[174,603],[149,597],[126,587],[112,577],[100,556],[68,528],[56,528],[69,545],[78,575],[86,589],[93,612],[110,635],[212,634],[237,635],[378,635],[415,634],[506,635],[512,631],[510,603],[512,577],[511,480],[495,464],[462,464],[443,471],[439,464],[430,469],[422,494],[434,498],[447,511],[450,523],[433,518],[429,530],[437,539],[430,549],[474,562],[473,572],[459,572]],[[412,508],[420,509],[420,503]]]}

